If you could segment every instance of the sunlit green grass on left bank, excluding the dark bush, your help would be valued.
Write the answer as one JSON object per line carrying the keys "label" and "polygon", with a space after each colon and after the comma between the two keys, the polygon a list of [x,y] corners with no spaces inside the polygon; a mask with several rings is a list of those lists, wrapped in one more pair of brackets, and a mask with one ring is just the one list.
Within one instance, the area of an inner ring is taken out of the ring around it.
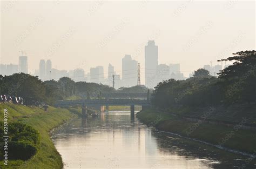
{"label": "sunlit green grass on left bank, excluding the dark bush", "polygon": [[0,104],[0,120],[3,120],[5,108],[8,109],[8,122],[19,121],[38,130],[41,144],[36,155],[29,160],[9,160],[8,167],[0,163],[0,168],[62,168],[62,158],[51,141],[49,131],[75,117],[76,110],[72,110],[73,113],[71,113],[67,109],[49,107],[49,111],[45,112],[35,106]]}

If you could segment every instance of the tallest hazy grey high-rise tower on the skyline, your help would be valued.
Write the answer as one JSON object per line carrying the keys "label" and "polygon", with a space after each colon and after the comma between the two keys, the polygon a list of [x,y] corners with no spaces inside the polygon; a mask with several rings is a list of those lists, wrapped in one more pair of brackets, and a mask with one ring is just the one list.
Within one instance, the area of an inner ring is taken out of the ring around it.
{"label": "tallest hazy grey high-rise tower on the skyline", "polygon": [[145,46],[145,85],[153,88],[157,85],[158,46],[149,40]]}

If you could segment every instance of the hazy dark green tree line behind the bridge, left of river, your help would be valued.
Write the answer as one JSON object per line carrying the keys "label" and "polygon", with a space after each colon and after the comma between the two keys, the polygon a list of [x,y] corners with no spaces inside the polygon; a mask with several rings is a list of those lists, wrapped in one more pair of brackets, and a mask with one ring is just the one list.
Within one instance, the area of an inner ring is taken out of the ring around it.
{"label": "hazy dark green tree line behind the bridge, left of river", "polygon": [[74,82],[68,77],[42,82],[37,76],[15,73],[11,76],[0,75],[0,95],[21,96],[26,105],[50,104],[57,100],[65,100],[72,96],[84,99],[102,98],[102,93],[111,92],[147,92],[145,86],[113,87],[97,83]]}

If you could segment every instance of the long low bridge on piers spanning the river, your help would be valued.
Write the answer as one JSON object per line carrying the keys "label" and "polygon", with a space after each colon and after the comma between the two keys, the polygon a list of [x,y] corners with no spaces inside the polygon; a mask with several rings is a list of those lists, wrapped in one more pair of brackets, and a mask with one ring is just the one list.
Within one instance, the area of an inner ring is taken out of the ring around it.
{"label": "long low bridge on piers spanning the river", "polygon": [[141,99],[80,99],[80,100],[59,100],[55,106],[56,107],[69,107],[69,106],[82,106],[82,114],[86,114],[86,107],[102,107],[105,106],[108,109],[109,106],[130,106],[131,116],[134,117],[134,106],[140,105],[143,107],[150,106],[148,100]]}

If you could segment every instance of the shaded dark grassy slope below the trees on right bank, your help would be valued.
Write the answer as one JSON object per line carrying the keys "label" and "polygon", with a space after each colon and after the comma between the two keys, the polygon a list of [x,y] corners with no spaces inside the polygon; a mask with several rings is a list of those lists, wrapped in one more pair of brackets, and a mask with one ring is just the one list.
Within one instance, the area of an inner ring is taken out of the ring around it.
{"label": "shaded dark grassy slope below the trees on right bank", "polygon": [[[178,116],[173,116],[170,113],[159,112],[156,109],[147,109],[137,113],[137,117],[147,125],[156,125],[157,129],[166,132],[180,134],[184,137],[190,137],[206,141],[211,144],[222,145],[234,150],[256,154],[256,134],[252,130],[239,129],[235,131],[233,127],[226,127],[216,124],[200,123],[185,121]],[[192,126],[194,130],[190,131]],[[232,134],[231,134],[232,133]],[[229,134],[229,135],[228,135]],[[230,137],[228,137],[230,136]]]}

